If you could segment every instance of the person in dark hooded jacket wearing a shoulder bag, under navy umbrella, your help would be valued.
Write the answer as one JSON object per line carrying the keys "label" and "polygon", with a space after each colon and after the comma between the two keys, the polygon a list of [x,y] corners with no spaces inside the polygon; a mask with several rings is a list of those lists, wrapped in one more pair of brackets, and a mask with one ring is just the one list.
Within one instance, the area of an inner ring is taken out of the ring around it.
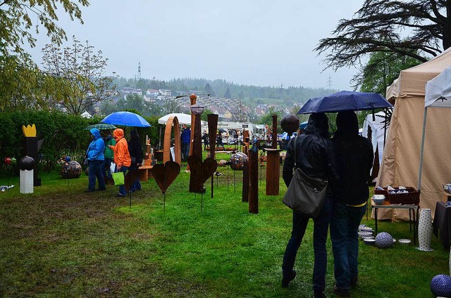
{"label": "person in dark hooded jacket wearing a shoulder bag, under navy umbrella", "polygon": [[[287,155],[283,163],[283,181],[285,181],[287,186],[290,185],[293,176],[295,159],[297,161],[297,167],[300,167],[305,174],[329,181],[330,179],[335,179],[333,150],[329,139],[328,128],[326,114],[311,114],[304,132],[297,138],[292,138],[290,143],[288,143]],[[297,143],[297,152],[294,152],[295,142]],[[314,219],[314,297],[326,297],[323,293],[326,288],[326,239],[333,203],[333,193],[329,184],[321,212]],[[299,245],[301,245],[308,223],[308,217],[293,212],[291,238],[288,241],[283,256],[282,287],[288,287],[288,283],[296,276],[296,271],[293,270],[293,267],[295,265],[297,250]]]}

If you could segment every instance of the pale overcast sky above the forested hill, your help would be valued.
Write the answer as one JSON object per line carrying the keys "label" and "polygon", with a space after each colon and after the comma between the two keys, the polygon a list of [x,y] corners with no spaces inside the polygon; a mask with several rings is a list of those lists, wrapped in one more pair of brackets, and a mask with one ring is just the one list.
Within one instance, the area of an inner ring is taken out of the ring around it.
{"label": "pale overcast sky above the forested hill", "polygon": [[[355,69],[326,70],[313,51],[363,0],[92,0],[84,25],[61,17],[68,39],[88,40],[108,58],[106,74],[168,80],[226,79],[258,86],[351,90]],[[59,11],[58,15],[63,15]],[[44,29],[41,29],[43,32]],[[49,43],[39,37],[37,63]],[[68,43],[67,45],[69,45]]]}

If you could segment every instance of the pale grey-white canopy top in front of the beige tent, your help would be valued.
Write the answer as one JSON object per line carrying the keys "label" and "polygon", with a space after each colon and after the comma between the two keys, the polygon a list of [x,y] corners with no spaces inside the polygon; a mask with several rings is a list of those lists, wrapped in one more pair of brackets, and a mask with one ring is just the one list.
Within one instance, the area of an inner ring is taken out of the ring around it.
{"label": "pale grey-white canopy top in front of the beige tent", "polygon": [[451,67],[426,82],[424,106],[451,108]]}

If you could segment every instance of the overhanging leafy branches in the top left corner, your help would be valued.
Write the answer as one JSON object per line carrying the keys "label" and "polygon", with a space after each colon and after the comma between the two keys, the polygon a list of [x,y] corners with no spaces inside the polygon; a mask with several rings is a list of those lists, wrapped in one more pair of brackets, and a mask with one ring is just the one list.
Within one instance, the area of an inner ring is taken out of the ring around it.
{"label": "overhanging leafy branches in the top left corner", "polygon": [[[23,56],[24,44],[35,47],[39,30],[58,46],[66,40],[66,32],[56,25],[56,11],[63,9],[71,20],[83,23],[79,6],[89,6],[87,0],[0,0],[0,56],[12,53]],[[61,14],[60,14],[61,16]]]}

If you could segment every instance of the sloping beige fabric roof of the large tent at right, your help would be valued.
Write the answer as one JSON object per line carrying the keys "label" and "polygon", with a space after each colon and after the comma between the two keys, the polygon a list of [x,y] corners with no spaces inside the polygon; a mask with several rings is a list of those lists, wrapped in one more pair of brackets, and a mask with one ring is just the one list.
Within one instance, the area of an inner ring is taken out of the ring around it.
{"label": "sloping beige fabric roof of the large tent at right", "polygon": [[387,87],[387,95],[385,97],[389,101],[393,101],[397,97],[424,96],[426,92],[424,82],[433,79],[450,65],[451,48],[448,48],[439,56],[423,64],[416,65],[407,70],[401,70],[400,76],[391,86]]}

